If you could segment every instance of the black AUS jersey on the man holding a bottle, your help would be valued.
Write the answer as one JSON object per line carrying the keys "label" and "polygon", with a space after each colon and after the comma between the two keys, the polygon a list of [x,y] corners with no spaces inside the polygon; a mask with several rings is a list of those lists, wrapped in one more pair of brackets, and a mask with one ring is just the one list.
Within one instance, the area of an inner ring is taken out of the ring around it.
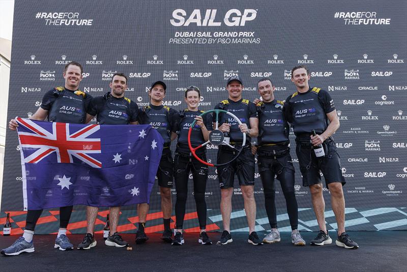
{"label": "black AUS jersey on the man holding a bottle", "polygon": [[327,114],[335,110],[334,102],[329,93],[321,88],[309,88],[305,93],[295,92],[285,100],[285,111],[288,122],[293,126],[294,133],[323,133],[328,127]]}

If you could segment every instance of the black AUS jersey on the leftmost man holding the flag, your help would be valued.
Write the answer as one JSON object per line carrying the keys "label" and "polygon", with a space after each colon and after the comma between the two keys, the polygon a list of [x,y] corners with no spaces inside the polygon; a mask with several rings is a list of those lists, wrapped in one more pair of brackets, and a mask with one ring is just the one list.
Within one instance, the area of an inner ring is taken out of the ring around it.
{"label": "black AUS jersey on the leftmost man holding the flag", "polygon": [[48,111],[49,122],[84,124],[92,96],[80,90],[55,87],[42,98],[41,108]]}

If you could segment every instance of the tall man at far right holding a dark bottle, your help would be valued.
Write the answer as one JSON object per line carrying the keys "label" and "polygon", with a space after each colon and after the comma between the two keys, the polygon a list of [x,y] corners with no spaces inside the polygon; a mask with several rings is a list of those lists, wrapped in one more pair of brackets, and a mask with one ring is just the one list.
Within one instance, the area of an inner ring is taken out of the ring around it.
{"label": "tall man at far right holding a dark bottle", "polygon": [[[325,201],[321,175],[331,193],[332,210],[338,226],[336,245],[346,249],[357,249],[358,244],[345,232],[345,200],[342,186],[340,160],[332,134],[339,128],[339,120],[331,96],[320,88],[308,85],[309,70],[304,65],[292,70],[291,80],[297,92],[287,97],[285,109],[288,122],[296,135],[297,156],[300,163],[303,185],[309,186],[312,205],[319,226],[319,233],[311,244],[323,246],[332,243],[325,225]],[[329,122],[328,122],[329,121]],[[312,131],[316,135],[312,135]],[[316,157],[313,148],[323,145],[325,156]]]}

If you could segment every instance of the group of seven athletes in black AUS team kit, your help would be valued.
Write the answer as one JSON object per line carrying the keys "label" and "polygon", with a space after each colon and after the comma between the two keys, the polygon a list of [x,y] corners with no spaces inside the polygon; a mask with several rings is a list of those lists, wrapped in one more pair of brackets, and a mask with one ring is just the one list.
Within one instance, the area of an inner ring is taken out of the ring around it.
{"label": "group of seven athletes in black AUS team kit", "polygon": [[[207,205],[205,201],[208,166],[198,161],[188,146],[188,131],[190,124],[195,121],[190,141],[192,147],[207,142],[210,132],[218,125],[222,132],[230,135],[229,145],[220,145],[217,163],[226,165],[217,167],[217,174],[221,189],[220,210],[223,221],[223,232],[218,241],[220,244],[232,242],[230,233],[230,215],[232,210],[231,198],[235,182],[235,174],[239,180],[244,208],[249,227],[248,242],[254,245],[279,242],[280,233],[277,228],[277,214],[275,205],[275,177],[280,181],[286,201],[287,213],[292,228],[292,243],[305,246],[306,242],[298,231],[298,205],[295,197],[295,169],[289,149],[289,124],[296,135],[296,152],[299,159],[303,186],[308,186],[311,193],[313,209],[319,226],[319,233],[310,244],[323,246],[332,243],[325,223],[325,201],[321,172],[331,195],[332,210],[337,222],[337,246],[346,249],[357,249],[354,242],[344,229],[345,202],[342,186],[345,180],[342,176],[339,155],[332,138],[332,134],[339,128],[339,120],[331,96],[325,90],[309,87],[310,74],[307,67],[301,65],[292,69],[292,81],[297,91],[288,96],[285,102],[274,97],[275,87],[270,78],[261,78],[258,83],[260,99],[253,102],[242,98],[244,89],[239,76],[231,76],[226,83],[228,98],[215,106],[215,110],[223,110],[234,114],[241,120],[241,124],[229,115],[219,113],[218,117],[203,113],[198,109],[200,91],[195,86],[185,90],[183,111],[163,105],[166,85],[163,81],[156,81],[149,91],[150,104],[138,108],[137,104],[124,96],[127,89],[127,76],[115,73],[109,87],[110,92],[100,97],[92,97],[79,90],[82,79],[82,66],[78,62],[70,62],[65,66],[63,76],[64,87],[55,87],[48,91],[37,112],[30,117],[32,120],[64,123],[86,124],[95,116],[98,124],[151,124],[164,139],[163,152],[157,171],[158,185],[161,196],[164,231],[162,240],[173,245],[182,245],[183,221],[188,195],[189,173],[192,172],[193,191],[199,222],[199,238],[201,244],[212,244],[206,232]],[[61,106],[73,106],[81,111],[64,112]],[[312,109],[312,111],[309,111]],[[111,111],[122,112],[122,115],[110,115]],[[307,111],[309,114],[307,114]],[[124,114],[125,113],[125,114]],[[216,121],[218,123],[216,124]],[[164,125],[163,125],[164,124]],[[16,130],[17,122],[12,119],[9,128]],[[316,135],[312,134],[312,131]],[[244,146],[243,134],[247,141]],[[175,157],[170,151],[171,141],[178,138]],[[255,140],[257,138],[257,141]],[[323,145],[325,156],[317,158],[313,147]],[[235,160],[237,150],[242,149]],[[254,199],[254,166],[257,153],[258,170],[263,183],[265,208],[268,215],[271,232],[260,239],[255,232],[256,203]],[[206,161],[205,148],[197,149],[196,155]],[[228,162],[228,163],[227,163]],[[175,204],[176,225],[175,237],[172,238],[170,216],[172,213],[171,187],[175,180],[177,200]],[[55,239],[55,248],[72,250],[73,244],[68,239],[67,226],[73,206],[60,207],[60,228]],[[149,204],[137,205],[139,218],[135,242],[146,242],[145,227]],[[105,240],[107,246],[126,247],[128,242],[117,232],[120,207],[110,207],[110,233]],[[3,255],[18,255],[22,252],[34,252],[34,229],[42,210],[28,210],[23,235],[10,247],[3,249]],[[98,207],[86,207],[86,234],[77,249],[88,250],[96,246],[94,225]]]}

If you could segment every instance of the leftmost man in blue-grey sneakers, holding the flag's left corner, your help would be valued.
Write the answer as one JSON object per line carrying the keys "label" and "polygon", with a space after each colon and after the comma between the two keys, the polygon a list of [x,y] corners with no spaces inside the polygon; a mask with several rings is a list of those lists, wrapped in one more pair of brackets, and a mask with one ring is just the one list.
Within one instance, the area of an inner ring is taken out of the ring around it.
{"label": "leftmost man in blue-grey sneakers, holding the flag's left corner", "polygon": [[[64,87],[55,87],[48,91],[42,98],[41,106],[30,119],[49,122],[76,123],[86,122],[86,110],[92,96],[78,90],[80,80],[82,80],[82,65],[77,62],[70,62],[65,66],[63,76],[65,78]],[[75,111],[63,111],[61,107],[74,107]],[[10,120],[9,128],[16,130],[18,124],[15,120]],[[66,236],[67,226],[71,217],[73,206],[60,208],[60,229],[55,239],[54,248],[60,250],[73,249],[72,243]],[[1,251],[3,255],[18,255],[22,252],[34,252],[33,235],[34,228],[40,218],[42,210],[28,210],[25,220],[25,229],[22,237],[18,238],[12,246]]]}

